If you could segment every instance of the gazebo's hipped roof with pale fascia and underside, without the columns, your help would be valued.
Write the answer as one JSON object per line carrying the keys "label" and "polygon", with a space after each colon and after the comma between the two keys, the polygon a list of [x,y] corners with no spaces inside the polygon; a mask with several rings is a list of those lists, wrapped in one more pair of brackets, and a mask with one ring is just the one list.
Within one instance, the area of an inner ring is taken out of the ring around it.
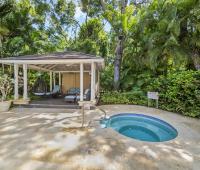
{"label": "gazebo's hipped roof with pale fascia and underside, without the columns", "polygon": [[41,71],[79,71],[80,63],[84,70],[89,71],[91,63],[96,63],[97,69],[104,66],[104,59],[81,52],[56,52],[51,54],[25,55],[0,59],[4,64],[28,64],[29,68]]}

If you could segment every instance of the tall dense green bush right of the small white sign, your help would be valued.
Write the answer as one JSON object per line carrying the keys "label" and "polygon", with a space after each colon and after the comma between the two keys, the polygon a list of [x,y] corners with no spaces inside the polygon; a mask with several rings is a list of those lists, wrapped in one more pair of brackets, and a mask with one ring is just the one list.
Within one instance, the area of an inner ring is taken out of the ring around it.
{"label": "tall dense green bush right of the small white sign", "polygon": [[191,117],[200,116],[200,71],[182,71],[160,76],[147,87],[159,92],[162,109]]}

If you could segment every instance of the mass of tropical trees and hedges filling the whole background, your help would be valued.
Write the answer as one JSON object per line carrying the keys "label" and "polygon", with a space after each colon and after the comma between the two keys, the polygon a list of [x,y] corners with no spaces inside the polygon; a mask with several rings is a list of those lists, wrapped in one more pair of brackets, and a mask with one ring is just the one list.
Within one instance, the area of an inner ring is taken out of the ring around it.
{"label": "mass of tropical trees and hedges filling the whole background", "polygon": [[199,0],[0,0],[1,57],[64,50],[105,58],[103,103],[146,104],[160,83],[163,109],[198,116]]}

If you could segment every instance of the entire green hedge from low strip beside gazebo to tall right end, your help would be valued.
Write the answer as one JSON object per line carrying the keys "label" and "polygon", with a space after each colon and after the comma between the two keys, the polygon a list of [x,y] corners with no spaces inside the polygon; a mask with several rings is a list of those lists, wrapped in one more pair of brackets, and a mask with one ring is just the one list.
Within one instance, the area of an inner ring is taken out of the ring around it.
{"label": "entire green hedge from low strip beside gazebo to tall right end", "polygon": [[147,91],[159,92],[159,107],[164,110],[200,117],[200,71],[182,71],[152,78],[143,90],[104,92],[100,101],[102,104],[147,105]]}

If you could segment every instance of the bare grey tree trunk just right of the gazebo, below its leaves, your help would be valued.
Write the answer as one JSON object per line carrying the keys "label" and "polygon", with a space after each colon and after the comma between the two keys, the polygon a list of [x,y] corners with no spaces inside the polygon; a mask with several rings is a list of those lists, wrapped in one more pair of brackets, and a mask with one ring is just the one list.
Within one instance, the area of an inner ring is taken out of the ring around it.
{"label": "bare grey tree trunk just right of the gazebo, below its leaves", "polygon": [[120,85],[120,68],[123,54],[123,37],[118,37],[117,47],[115,49],[114,61],[114,89],[119,90]]}

